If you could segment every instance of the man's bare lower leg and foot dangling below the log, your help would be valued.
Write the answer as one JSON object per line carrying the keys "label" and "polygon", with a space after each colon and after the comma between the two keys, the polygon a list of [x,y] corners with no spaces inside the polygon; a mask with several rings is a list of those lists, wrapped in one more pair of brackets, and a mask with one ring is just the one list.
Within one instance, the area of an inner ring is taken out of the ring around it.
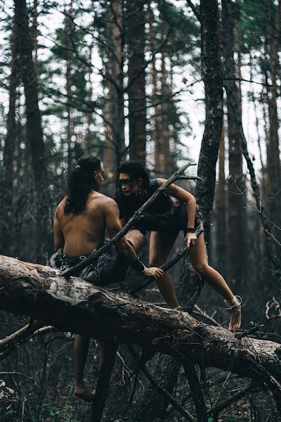
{"label": "man's bare lower leg and foot dangling below the log", "polygon": [[82,335],[75,335],[74,338],[74,396],[79,397],[85,402],[92,402],[95,395],[94,391],[86,388],[83,373],[86,364],[87,354],[89,352],[90,339]]}

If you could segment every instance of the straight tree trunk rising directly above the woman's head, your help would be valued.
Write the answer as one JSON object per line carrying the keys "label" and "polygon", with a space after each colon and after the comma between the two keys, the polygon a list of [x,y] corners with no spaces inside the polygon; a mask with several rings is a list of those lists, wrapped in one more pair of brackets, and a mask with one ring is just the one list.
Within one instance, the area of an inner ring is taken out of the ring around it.
{"label": "straight tree trunk rising directly above the woman's head", "polygon": [[[129,4],[129,153],[130,160],[146,158],[146,101],[145,101],[145,16],[143,1]],[[143,70],[142,70],[143,69]]]}

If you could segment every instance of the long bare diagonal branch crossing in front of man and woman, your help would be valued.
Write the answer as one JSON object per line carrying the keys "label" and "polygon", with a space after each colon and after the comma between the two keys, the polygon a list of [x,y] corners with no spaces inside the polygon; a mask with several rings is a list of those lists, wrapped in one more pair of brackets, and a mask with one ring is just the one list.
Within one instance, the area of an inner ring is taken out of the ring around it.
{"label": "long bare diagonal branch crossing in front of man and woman", "polygon": [[123,229],[120,230],[117,233],[116,236],[114,236],[112,239],[110,239],[110,241],[107,242],[106,245],[103,245],[101,248],[99,248],[95,252],[91,253],[91,255],[89,257],[87,257],[86,260],[83,260],[83,261],[79,262],[79,264],[74,265],[74,267],[72,267],[72,268],[68,269],[67,271],[63,272],[63,274],[61,274],[61,275],[63,277],[65,277],[65,278],[68,278],[70,276],[73,276],[78,271],[81,271],[81,269],[84,269],[87,265],[89,265],[93,261],[95,261],[98,257],[100,257],[100,255],[103,255],[103,253],[107,249],[110,249],[113,245],[115,245],[115,243],[119,242],[119,240],[122,237],[124,237],[125,234],[127,234],[128,231],[133,227],[133,225],[141,217],[141,215],[143,214],[143,212],[152,204],[152,202],[154,202],[155,199],[157,199],[158,196],[161,195],[161,193],[168,186],[170,186],[172,183],[174,183],[174,181],[178,180],[178,177],[181,177],[181,174],[183,174],[183,172],[185,172],[185,170],[188,167],[190,167],[190,165],[194,165],[194,164],[191,164],[191,162],[188,161],[187,164],[185,164],[183,167],[181,167],[179,170],[177,170],[174,174],[172,174],[172,176],[167,181],[165,181],[165,183],[162,184],[162,186],[159,186],[159,188],[157,189],[157,191],[155,193],[153,193],[153,195],[150,196],[150,198],[146,201],[146,203],[144,203],[139,208],[139,210],[135,212],[135,214],[133,215],[133,217],[131,217],[131,219],[129,219],[129,222],[127,222],[127,224],[123,227]]}

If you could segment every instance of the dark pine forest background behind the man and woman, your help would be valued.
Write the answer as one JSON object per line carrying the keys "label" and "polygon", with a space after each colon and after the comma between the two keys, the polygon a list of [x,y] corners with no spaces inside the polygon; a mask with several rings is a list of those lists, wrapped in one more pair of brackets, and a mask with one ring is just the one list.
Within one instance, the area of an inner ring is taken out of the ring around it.
{"label": "dark pine forest background behind the man and woman", "polygon": [[[103,160],[109,196],[124,160],[138,160],[151,177],[191,160],[203,181],[181,186],[200,205],[209,262],[242,297],[242,327],[264,324],[261,338],[279,342],[280,12],[280,0],[0,1],[1,255],[48,262],[54,210],[81,155]],[[181,235],[176,247],[182,243]],[[148,262],[148,244],[142,256]],[[185,305],[196,275],[186,259],[171,274]],[[129,273],[126,285],[138,283]],[[140,297],[164,305],[155,286]],[[208,286],[193,312],[228,326],[228,310]],[[0,319],[1,338],[28,322],[5,312]],[[72,399],[72,340],[50,328],[0,354],[1,421],[87,420],[89,407]],[[100,350],[93,340],[91,385]],[[157,355],[149,366],[192,411],[178,362]],[[201,382],[209,407],[245,389],[209,422],[275,417],[261,386],[246,389],[210,369]],[[184,420],[126,347],[111,383],[104,421]]]}

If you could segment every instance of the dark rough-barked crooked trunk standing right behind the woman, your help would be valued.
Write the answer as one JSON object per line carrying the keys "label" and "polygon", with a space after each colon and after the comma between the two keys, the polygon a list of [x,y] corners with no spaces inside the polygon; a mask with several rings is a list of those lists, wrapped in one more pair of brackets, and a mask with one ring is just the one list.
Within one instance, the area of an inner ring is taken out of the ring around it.
{"label": "dark rough-barked crooked trunk standing right behind the woman", "polygon": [[205,85],[206,120],[200,149],[195,196],[204,219],[205,236],[208,241],[211,210],[214,202],[216,160],[223,125],[223,87],[221,61],[218,56],[218,2],[200,2],[202,74]]}

